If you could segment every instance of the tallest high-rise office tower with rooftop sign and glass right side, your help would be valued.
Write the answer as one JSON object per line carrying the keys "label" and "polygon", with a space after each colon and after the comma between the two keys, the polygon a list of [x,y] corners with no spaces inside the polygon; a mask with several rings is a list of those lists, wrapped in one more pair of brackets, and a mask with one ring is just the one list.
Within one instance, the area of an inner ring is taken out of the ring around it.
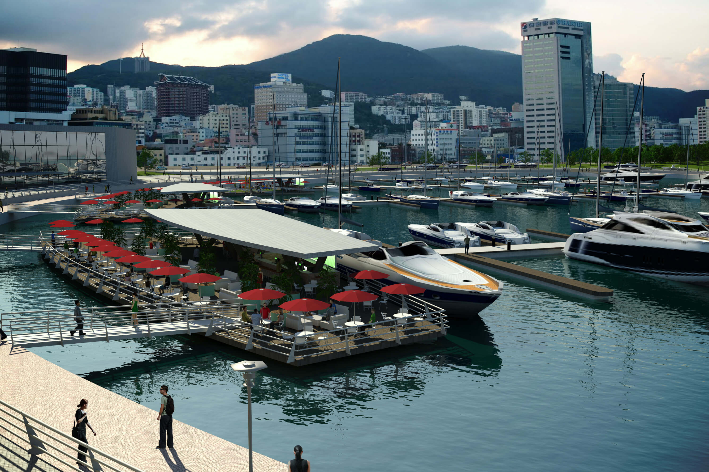
{"label": "tallest high-rise office tower with rooftop sign and glass right side", "polygon": [[520,32],[525,149],[537,156],[554,143],[564,154],[595,146],[591,23],[533,18]]}

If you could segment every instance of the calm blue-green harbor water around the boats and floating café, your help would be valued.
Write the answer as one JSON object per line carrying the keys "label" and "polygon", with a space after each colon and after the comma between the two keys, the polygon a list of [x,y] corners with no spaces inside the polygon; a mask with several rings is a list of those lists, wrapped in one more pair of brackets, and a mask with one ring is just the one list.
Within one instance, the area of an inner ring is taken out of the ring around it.
{"label": "calm blue-green harbor water around the boats and floating caf\u00e9", "polygon": [[[708,200],[644,203],[688,216],[709,211]],[[502,219],[568,233],[569,212],[589,216],[592,206],[372,207],[352,219],[397,243],[409,240],[406,224],[438,221]],[[330,212],[297,218],[336,226]],[[2,231],[36,234],[51,219]],[[479,319],[452,321],[435,344],[298,369],[267,360],[254,388],[255,450],[286,461],[301,444],[327,471],[705,470],[709,289],[561,257],[512,262],[611,287],[615,296],[591,302],[499,277],[503,296]],[[31,253],[0,253],[0,284],[1,311],[71,306],[77,297],[99,304]],[[248,356],[194,338],[33,352],[151,408],[168,384],[175,418],[245,445],[246,393],[229,364]]]}

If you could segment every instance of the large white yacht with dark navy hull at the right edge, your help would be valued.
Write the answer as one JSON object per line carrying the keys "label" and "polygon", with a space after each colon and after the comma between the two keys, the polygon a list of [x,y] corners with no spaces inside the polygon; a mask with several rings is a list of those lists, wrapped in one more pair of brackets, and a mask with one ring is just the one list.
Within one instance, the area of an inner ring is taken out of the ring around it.
{"label": "large white yacht with dark navy hull at the right edge", "polygon": [[684,233],[649,213],[615,212],[601,228],[569,236],[563,252],[666,280],[709,283],[709,237]]}

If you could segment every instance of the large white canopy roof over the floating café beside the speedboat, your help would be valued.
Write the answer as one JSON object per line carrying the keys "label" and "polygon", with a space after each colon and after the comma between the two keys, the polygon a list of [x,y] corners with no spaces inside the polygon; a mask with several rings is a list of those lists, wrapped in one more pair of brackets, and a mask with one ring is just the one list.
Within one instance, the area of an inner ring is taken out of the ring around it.
{"label": "large white canopy roof over the floating caf\u00e9 beside the speedboat", "polygon": [[166,224],[202,236],[296,258],[321,258],[379,248],[372,243],[258,208],[145,211]]}

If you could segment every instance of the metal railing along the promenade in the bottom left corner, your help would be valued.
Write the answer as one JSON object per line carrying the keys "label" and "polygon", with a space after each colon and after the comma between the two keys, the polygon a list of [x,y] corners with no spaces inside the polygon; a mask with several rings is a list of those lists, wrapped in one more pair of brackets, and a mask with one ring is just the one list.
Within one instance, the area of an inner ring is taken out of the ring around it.
{"label": "metal railing along the promenade in the bottom left corner", "polygon": [[[47,454],[69,470],[81,472],[77,464],[77,454],[84,454],[87,461],[84,467],[90,471],[111,470],[114,472],[144,472],[142,469],[116,459],[69,434],[34,418],[32,415],[0,400],[0,428],[29,444],[29,453],[37,456]],[[79,446],[86,448],[80,451]]]}

